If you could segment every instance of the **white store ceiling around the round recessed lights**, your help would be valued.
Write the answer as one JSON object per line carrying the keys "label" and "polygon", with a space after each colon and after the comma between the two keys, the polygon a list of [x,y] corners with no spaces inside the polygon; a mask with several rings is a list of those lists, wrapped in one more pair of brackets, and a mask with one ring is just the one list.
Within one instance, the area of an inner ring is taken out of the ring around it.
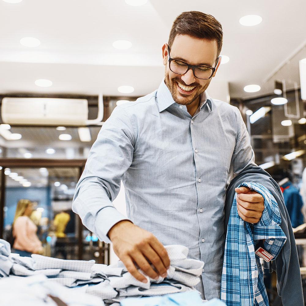
{"label": "white store ceiling around the round recessed lights", "polygon": [[[253,97],[243,91],[248,84],[262,86],[256,95],[271,93],[274,78],[267,78],[283,63],[284,73],[277,77],[299,82],[297,62],[306,57],[306,48],[288,59],[306,43],[306,1],[151,0],[137,7],[124,0],[0,0],[0,94],[118,95],[118,86],[131,85],[131,95],[146,95],[162,80],[161,47],[171,24],[187,10],[210,13],[221,22],[221,54],[230,62],[221,65],[216,80],[229,82],[231,98]],[[249,14],[260,15],[262,23],[239,24]],[[41,45],[23,47],[19,41],[26,36]],[[132,48],[114,49],[119,39],[131,41]],[[39,78],[53,86],[37,87]]]}

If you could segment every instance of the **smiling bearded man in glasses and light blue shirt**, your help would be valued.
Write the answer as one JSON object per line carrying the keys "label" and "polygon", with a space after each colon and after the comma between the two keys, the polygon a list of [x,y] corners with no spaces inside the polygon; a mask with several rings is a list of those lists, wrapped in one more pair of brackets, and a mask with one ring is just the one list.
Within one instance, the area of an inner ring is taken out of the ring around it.
{"label": "smiling bearded man in glasses and light blue shirt", "polygon": [[[117,106],[103,124],[73,202],[84,225],[112,241],[140,281],[136,266],[151,278],[166,276],[163,245],[187,246],[190,258],[205,263],[196,288],[206,299],[220,296],[228,177],[254,164],[239,110],[205,92],[221,62],[222,35],[211,15],[176,18],[162,46],[165,79],[157,91]],[[129,219],[111,202],[121,180]],[[247,188],[237,193],[241,218],[258,222],[263,197]]]}

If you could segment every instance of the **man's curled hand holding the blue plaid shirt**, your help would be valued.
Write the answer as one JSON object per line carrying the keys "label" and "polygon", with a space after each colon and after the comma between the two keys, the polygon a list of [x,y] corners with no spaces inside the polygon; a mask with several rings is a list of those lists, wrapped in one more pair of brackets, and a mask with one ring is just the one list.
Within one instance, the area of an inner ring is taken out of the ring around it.
{"label": "man's curled hand holding the blue plaid shirt", "polygon": [[257,223],[265,208],[263,196],[248,187],[235,188],[235,191],[238,215],[246,222]]}

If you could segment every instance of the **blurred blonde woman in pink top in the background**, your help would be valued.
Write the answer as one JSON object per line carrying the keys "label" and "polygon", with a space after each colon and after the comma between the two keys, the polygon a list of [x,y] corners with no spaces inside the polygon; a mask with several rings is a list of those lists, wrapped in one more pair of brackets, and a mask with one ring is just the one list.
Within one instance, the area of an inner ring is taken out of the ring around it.
{"label": "blurred blonde woman in pink top in the background", "polygon": [[13,236],[15,238],[12,253],[31,257],[31,254],[42,254],[43,247],[36,232],[37,226],[30,219],[33,203],[30,200],[19,200],[13,222]]}

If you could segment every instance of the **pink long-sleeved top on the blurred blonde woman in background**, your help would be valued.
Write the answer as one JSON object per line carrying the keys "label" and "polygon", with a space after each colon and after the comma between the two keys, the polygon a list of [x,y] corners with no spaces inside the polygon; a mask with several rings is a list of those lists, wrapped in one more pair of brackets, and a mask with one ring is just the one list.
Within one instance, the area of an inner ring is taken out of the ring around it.
{"label": "pink long-sleeved top on the blurred blonde woman in background", "polygon": [[27,216],[20,216],[16,219],[13,228],[15,242],[13,248],[21,251],[34,253],[42,247],[38,239],[37,226]]}

